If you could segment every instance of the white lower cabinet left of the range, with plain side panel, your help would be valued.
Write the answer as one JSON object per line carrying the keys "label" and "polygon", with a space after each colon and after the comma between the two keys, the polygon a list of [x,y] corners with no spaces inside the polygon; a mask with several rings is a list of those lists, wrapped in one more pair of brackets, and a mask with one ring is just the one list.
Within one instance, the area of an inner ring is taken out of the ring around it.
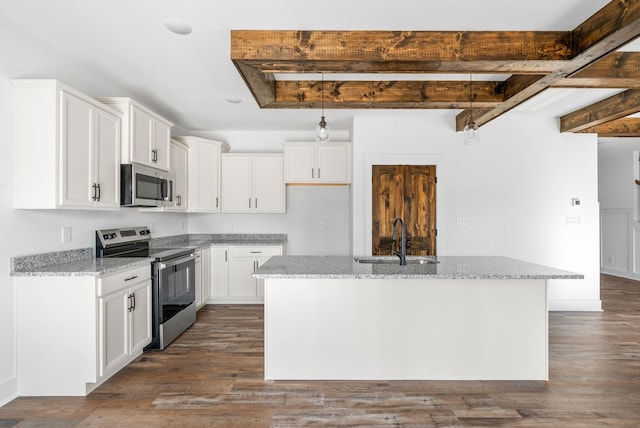
{"label": "white lower cabinet left of the range, with plain side panel", "polygon": [[16,277],[20,396],[85,396],[151,342],[151,267]]}

